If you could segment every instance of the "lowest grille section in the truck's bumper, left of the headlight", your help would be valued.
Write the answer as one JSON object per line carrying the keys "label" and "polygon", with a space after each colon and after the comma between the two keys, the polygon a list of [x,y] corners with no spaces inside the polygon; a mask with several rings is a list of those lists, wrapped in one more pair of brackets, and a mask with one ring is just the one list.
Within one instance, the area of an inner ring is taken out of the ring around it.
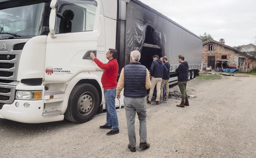
{"label": "lowest grille section in the truck's bumper, left of the headlight", "polygon": [[0,85],[0,104],[11,104],[15,98],[15,86]]}

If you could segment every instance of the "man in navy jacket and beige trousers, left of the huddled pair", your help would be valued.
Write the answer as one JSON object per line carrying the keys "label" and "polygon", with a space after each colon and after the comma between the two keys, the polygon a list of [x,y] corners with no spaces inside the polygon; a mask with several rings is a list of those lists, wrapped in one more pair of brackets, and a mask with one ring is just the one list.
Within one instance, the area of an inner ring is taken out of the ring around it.
{"label": "man in navy jacket and beige trousers, left of the huddled pair", "polygon": [[152,76],[151,79],[151,88],[149,92],[148,97],[148,103],[151,104],[151,99],[153,96],[153,92],[155,89],[155,86],[157,86],[157,98],[156,98],[156,104],[158,105],[160,102],[160,87],[162,78],[164,76],[164,71],[167,71],[167,68],[164,66],[164,63],[159,60],[158,55],[153,56],[153,62],[150,66],[150,75]]}

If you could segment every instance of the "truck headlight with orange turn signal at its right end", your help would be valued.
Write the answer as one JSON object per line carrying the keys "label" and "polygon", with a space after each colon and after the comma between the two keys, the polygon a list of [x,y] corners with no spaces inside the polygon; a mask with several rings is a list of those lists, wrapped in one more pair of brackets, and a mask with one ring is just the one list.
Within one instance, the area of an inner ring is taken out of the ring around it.
{"label": "truck headlight with orange turn signal at its right end", "polygon": [[42,91],[16,91],[16,99],[38,100],[41,99]]}

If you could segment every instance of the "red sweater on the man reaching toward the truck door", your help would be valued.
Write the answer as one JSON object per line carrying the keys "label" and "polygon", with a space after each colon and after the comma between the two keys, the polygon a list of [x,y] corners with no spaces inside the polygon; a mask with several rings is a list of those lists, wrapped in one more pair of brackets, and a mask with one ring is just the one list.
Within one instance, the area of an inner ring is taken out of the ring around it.
{"label": "red sweater on the man reaching toward the truck door", "polygon": [[104,64],[99,61],[97,58],[94,59],[94,62],[103,69],[104,72],[101,76],[101,83],[104,89],[113,89],[118,85],[118,61],[115,59],[110,60],[108,63]]}

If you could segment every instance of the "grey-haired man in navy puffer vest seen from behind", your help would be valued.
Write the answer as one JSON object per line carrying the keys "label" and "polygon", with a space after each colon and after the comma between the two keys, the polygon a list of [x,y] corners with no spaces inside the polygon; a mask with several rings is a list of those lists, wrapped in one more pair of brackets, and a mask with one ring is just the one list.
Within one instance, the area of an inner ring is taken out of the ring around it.
{"label": "grey-haired man in navy puffer vest seen from behind", "polygon": [[128,148],[131,152],[136,151],[136,133],[135,133],[135,114],[137,112],[140,121],[140,148],[148,149],[150,144],[147,143],[147,109],[146,109],[146,90],[150,89],[150,75],[148,69],[138,61],[141,53],[138,50],[131,52],[130,64],[126,65],[118,80],[116,97],[124,89],[124,103],[127,120],[127,131],[129,137]]}

